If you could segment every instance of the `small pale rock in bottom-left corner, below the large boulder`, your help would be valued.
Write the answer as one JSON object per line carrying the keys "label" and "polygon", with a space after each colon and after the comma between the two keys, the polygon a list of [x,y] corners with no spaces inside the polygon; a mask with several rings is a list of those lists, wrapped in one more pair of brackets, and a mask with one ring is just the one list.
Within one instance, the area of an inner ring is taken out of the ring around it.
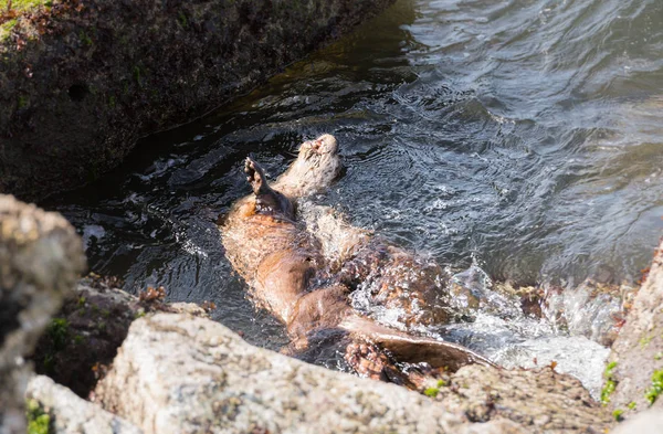
{"label": "small pale rock in bottom-left corner, below the large boulder", "polygon": [[[28,383],[25,398],[34,400],[35,409],[48,415],[49,433],[69,434],[139,434],[141,430],[101,406],[78,398],[67,388],[44,375]],[[46,421],[44,421],[46,422]]]}

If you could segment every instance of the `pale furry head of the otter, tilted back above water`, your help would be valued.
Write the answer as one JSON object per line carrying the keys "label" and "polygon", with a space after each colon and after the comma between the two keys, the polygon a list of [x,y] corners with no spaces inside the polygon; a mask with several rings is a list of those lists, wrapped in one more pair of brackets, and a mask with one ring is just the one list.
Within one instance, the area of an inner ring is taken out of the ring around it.
{"label": "pale furry head of the otter, tilted back above water", "polygon": [[312,194],[329,187],[338,177],[341,167],[336,138],[324,134],[315,140],[302,144],[297,159],[278,183],[288,195]]}

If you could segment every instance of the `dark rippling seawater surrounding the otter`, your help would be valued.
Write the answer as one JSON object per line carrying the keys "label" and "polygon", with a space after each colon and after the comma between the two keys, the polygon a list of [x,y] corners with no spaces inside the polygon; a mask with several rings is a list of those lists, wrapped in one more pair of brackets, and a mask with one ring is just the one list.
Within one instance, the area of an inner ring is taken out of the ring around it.
{"label": "dark rippling seawater surrounding the otter", "polygon": [[[494,279],[633,282],[663,229],[662,54],[660,0],[399,0],[51,208],[80,229],[95,272],[212,300],[218,320],[275,349],[283,330],[245,300],[213,222],[249,192],[245,156],[277,176],[320,133],[338,138],[347,171],[316,201],[356,225]],[[506,360],[514,341],[539,345],[514,363],[585,348],[588,375],[600,372],[606,353],[589,341],[495,321],[477,321],[488,356]]]}

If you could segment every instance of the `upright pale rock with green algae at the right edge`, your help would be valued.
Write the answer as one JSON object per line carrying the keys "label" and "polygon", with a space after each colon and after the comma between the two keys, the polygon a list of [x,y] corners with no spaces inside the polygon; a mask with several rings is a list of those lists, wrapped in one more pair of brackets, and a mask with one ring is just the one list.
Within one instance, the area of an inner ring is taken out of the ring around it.
{"label": "upright pale rock with green algae at the right edge", "polygon": [[[651,406],[663,409],[663,242],[612,345],[609,363],[603,395],[612,409],[624,411],[625,417],[648,409],[651,401]],[[659,380],[653,381],[656,372]]]}

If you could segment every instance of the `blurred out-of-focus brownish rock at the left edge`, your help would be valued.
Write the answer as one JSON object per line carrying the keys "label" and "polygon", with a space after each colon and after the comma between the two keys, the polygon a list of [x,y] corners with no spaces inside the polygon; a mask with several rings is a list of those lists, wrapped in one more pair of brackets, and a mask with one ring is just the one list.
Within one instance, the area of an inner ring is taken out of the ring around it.
{"label": "blurred out-of-focus brownish rock at the left edge", "polygon": [[0,195],[0,433],[25,432],[29,354],[85,268],[83,244],[60,214]]}

